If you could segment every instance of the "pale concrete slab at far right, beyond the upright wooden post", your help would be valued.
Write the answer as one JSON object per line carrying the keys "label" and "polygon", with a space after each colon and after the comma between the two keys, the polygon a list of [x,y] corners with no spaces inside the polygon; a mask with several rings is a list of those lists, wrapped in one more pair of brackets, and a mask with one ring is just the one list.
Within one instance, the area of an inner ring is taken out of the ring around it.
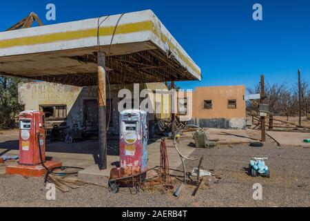
{"label": "pale concrete slab at far right, beyond the upright wooden post", "polygon": [[267,134],[281,145],[310,147],[310,143],[303,142],[304,139],[310,139],[310,133],[268,131]]}

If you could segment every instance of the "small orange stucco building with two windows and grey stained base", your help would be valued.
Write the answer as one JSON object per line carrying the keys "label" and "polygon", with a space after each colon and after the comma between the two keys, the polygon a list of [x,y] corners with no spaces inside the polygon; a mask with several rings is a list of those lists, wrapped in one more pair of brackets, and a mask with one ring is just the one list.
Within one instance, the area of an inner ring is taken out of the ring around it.
{"label": "small orange stucco building with two windows and grey stained base", "polygon": [[245,128],[245,86],[198,87],[192,93],[191,124],[203,128]]}

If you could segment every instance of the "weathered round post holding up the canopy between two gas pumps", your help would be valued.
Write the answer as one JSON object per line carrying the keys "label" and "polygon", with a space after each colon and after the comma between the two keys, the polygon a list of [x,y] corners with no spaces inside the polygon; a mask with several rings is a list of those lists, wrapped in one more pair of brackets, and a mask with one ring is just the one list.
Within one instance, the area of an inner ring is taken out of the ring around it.
{"label": "weathered round post holding up the canopy between two gas pumps", "polygon": [[105,95],[105,55],[98,52],[98,105],[99,105],[99,169],[107,169],[107,103]]}

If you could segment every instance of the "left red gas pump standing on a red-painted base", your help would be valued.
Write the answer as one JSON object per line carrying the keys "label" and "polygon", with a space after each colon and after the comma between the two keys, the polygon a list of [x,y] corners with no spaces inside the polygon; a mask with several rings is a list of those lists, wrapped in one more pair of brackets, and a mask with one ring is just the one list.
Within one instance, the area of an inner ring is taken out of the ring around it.
{"label": "left red gas pump standing on a red-painted base", "polygon": [[6,166],[7,174],[39,177],[61,162],[45,160],[45,119],[43,111],[23,111],[19,115],[19,164]]}

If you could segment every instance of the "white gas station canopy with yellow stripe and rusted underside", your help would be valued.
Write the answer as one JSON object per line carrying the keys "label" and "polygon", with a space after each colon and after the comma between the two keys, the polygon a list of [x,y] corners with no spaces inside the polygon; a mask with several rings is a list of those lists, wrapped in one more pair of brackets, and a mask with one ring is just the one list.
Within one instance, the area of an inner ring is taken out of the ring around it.
{"label": "white gas station canopy with yellow stripe and rusted underside", "polygon": [[0,32],[0,75],[97,85],[99,51],[111,84],[201,79],[151,10]]}

